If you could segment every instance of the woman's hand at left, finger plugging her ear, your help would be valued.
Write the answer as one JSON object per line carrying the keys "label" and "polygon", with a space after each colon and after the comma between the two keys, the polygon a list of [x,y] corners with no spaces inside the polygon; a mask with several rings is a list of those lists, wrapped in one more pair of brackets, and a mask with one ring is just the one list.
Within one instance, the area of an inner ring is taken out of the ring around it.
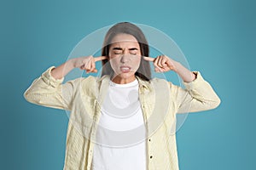
{"label": "woman's hand at left, finger plugging her ear", "polygon": [[96,61],[100,61],[102,59],[108,59],[106,56],[100,56],[100,57],[93,57],[85,56],[85,57],[79,57],[72,59],[73,61],[73,67],[80,68],[81,70],[85,70],[87,73],[89,72],[97,72],[96,70]]}

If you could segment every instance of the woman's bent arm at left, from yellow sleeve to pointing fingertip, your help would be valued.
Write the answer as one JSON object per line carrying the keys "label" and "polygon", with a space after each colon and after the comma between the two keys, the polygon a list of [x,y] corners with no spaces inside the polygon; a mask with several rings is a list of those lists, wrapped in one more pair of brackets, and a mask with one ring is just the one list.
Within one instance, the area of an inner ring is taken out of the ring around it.
{"label": "woman's bent arm at left, from yellow sleeve to pointing fingertip", "polygon": [[26,89],[24,97],[27,101],[44,105],[47,107],[71,110],[73,94],[76,91],[76,87],[80,82],[80,79],[66,82],[62,84],[64,77],[73,68],[79,67],[87,72],[95,72],[95,62],[105,57],[93,58],[81,57],[67,60],[66,63],[58,66],[49,67],[47,71],[32,82],[32,85]]}

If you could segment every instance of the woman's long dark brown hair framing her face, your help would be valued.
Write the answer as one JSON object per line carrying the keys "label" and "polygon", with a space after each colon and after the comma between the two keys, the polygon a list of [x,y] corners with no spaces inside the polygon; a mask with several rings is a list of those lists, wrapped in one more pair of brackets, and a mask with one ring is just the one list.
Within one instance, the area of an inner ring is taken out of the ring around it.
{"label": "woman's long dark brown hair framing her face", "polygon": [[[113,40],[113,37],[117,36],[118,34],[129,34],[137,39],[137,42],[139,43],[140,50],[141,50],[141,62],[139,65],[139,68],[135,72],[135,75],[137,77],[142,78],[145,81],[149,81],[151,79],[151,71],[150,71],[150,65],[149,62],[143,59],[143,56],[148,57],[149,55],[149,47],[148,47],[148,41],[143,34],[143,31],[134,24],[131,24],[130,22],[120,22],[114,26],[112,26],[103,42],[102,46],[102,56],[108,56],[109,54],[109,48],[111,46],[111,42]],[[108,59],[102,60],[102,77],[104,75],[113,75],[113,69],[111,65],[108,62]]]}

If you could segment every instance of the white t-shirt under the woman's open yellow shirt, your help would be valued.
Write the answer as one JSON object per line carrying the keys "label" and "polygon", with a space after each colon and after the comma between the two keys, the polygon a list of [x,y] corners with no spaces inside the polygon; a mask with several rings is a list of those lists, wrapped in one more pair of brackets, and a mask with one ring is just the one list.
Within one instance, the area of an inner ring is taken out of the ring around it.
{"label": "white t-shirt under the woman's open yellow shirt", "polygon": [[93,170],[146,170],[146,143],[138,82],[110,82],[102,104]]}

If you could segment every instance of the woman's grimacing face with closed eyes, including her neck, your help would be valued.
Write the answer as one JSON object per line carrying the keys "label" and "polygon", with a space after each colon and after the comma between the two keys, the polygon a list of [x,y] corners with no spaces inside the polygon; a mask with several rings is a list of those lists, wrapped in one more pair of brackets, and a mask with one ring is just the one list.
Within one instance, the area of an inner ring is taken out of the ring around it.
{"label": "woman's grimacing face with closed eyes, including her neck", "polygon": [[135,80],[135,72],[141,61],[141,50],[137,39],[129,34],[113,37],[109,48],[110,65],[113,68],[113,82],[128,83]]}

